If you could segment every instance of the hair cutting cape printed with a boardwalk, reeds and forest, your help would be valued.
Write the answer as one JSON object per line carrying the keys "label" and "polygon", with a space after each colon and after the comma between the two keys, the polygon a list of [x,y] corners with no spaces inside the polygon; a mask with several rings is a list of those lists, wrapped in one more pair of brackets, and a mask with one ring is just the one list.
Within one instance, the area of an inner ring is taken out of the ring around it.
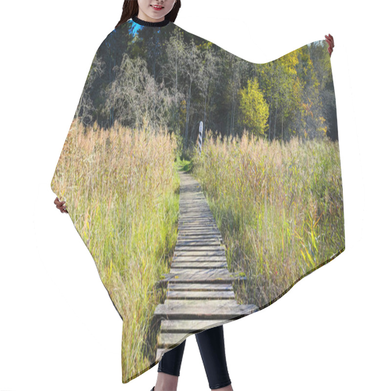
{"label": "hair cutting cape printed with a boardwalk, reeds and forest", "polygon": [[99,46],[51,189],[123,320],[123,383],[345,250],[327,47],[256,64],[134,18]]}

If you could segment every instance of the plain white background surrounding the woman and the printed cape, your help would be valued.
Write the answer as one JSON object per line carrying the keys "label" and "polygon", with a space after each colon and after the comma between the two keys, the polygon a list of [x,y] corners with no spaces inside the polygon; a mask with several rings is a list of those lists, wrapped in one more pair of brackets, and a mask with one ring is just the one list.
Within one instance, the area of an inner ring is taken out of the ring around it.
{"label": "plain white background surrounding the woman and the printed cape", "polygon": [[[122,0],[1,3],[0,390],[122,384],[122,321],[50,182],[93,56]],[[176,24],[266,63],[331,33],[346,250],[224,325],[240,390],[390,390],[390,69],[386,2],[183,0]],[[178,391],[209,390],[195,336]]]}

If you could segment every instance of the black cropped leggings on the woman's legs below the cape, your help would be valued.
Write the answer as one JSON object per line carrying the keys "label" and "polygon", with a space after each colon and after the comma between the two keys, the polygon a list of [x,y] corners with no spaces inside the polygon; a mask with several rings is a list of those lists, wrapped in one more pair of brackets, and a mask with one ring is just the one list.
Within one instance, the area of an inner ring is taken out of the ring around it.
{"label": "black cropped leggings on the woman's legs below the cape", "polygon": [[[229,386],[231,380],[225,359],[223,326],[208,328],[207,330],[196,333],[195,338],[199,352],[201,353],[202,362],[204,363],[210,389],[214,390]],[[186,340],[163,354],[157,368],[158,372],[179,376],[185,342]]]}

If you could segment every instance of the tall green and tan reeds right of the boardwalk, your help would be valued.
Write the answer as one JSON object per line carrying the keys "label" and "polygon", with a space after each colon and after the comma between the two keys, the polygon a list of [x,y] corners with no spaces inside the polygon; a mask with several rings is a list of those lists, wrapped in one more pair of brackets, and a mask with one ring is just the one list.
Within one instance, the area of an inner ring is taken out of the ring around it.
{"label": "tall green and tan reeds right of the boardwalk", "polygon": [[272,304],[345,249],[338,142],[207,134],[192,161],[229,270],[247,277],[239,303]]}

